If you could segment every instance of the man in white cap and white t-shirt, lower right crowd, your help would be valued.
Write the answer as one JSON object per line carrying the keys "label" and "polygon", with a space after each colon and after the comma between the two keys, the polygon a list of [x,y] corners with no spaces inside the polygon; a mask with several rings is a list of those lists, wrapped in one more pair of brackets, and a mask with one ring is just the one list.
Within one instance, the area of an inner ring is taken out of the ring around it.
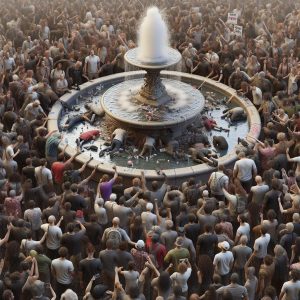
{"label": "man in white cap and white t-shirt, lower right crowd", "polygon": [[222,280],[222,284],[226,285],[229,282],[230,271],[233,267],[233,254],[230,249],[230,245],[227,241],[218,243],[218,248],[221,252],[214,257],[213,265],[215,268],[215,274],[219,274]]}

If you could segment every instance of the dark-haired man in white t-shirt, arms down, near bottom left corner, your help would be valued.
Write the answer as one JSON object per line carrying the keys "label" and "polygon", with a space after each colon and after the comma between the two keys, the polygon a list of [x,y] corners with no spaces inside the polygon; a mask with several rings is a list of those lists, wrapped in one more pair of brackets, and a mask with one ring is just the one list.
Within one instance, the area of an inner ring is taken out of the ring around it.
{"label": "dark-haired man in white t-shirt, arms down, near bottom left corner", "polygon": [[56,296],[60,299],[61,295],[69,288],[71,288],[74,266],[70,260],[67,259],[68,249],[66,247],[59,248],[59,258],[54,259],[51,263],[51,272],[56,283]]}

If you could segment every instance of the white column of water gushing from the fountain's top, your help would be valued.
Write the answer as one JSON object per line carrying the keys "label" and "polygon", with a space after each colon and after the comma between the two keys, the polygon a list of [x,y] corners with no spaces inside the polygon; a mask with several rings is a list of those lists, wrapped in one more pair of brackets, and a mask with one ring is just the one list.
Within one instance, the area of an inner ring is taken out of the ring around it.
{"label": "white column of water gushing from the fountain's top", "polygon": [[147,10],[139,30],[139,59],[144,63],[163,63],[167,60],[168,28],[157,7]]}

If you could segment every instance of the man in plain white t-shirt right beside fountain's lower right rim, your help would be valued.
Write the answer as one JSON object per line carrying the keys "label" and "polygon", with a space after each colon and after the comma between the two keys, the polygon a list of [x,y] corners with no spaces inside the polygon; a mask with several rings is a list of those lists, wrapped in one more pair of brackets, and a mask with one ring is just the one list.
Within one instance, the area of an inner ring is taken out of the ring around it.
{"label": "man in plain white t-shirt right beside fountain's lower right rim", "polygon": [[245,152],[238,154],[239,160],[235,162],[233,176],[238,178],[247,193],[252,187],[252,180],[257,175],[257,168],[252,159],[246,157]]}

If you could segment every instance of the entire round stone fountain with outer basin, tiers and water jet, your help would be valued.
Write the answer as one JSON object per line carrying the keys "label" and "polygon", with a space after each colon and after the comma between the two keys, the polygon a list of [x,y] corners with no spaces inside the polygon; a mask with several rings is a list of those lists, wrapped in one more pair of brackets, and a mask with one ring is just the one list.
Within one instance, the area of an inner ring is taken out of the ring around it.
{"label": "entire round stone fountain with outer basin, tiers and water jet", "polygon": [[[116,164],[119,174],[128,180],[139,176],[141,169],[145,170],[146,178],[159,180],[161,175],[156,172],[159,168],[164,170],[170,182],[176,184],[190,176],[207,179],[213,168],[195,163],[188,156],[183,160],[174,160],[163,148],[145,160],[139,159],[136,155],[138,144],[144,136],[164,136],[167,140],[177,140],[181,149],[186,151],[190,127],[201,130],[212,142],[212,132],[206,132],[201,127],[201,117],[207,115],[214,118],[219,126],[229,129],[216,133],[228,140],[228,151],[218,152],[219,163],[227,166],[237,159],[235,145],[238,137],[259,136],[260,118],[248,99],[239,97],[232,88],[211,79],[168,70],[180,62],[181,54],[169,47],[167,26],[157,8],[148,9],[140,27],[138,47],[127,51],[124,58],[139,71],[86,82],[81,85],[79,92],[72,91],[61,97],[63,102],[75,104],[75,110],[66,112],[61,102],[57,102],[49,114],[48,129],[61,130],[67,118],[86,111],[85,104],[102,106],[105,117],[96,118],[93,125],[81,123],[63,133],[60,147],[68,144],[66,153],[72,155],[76,151],[76,139],[80,133],[100,129],[100,137],[87,145],[93,145],[98,150],[83,148],[84,152],[76,157],[79,164],[93,158],[88,166],[92,168],[98,165],[99,173],[113,173],[112,166]],[[203,86],[201,92],[197,88],[199,86]],[[226,120],[221,118],[222,110],[228,108],[225,104],[228,98],[232,99],[232,105],[244,108],[247,121],[229,127]],[[99,151],[110,143],[110,135],[115,128],[126,129],[135,136],[135,140],[113,158],[109,155],[99,157]]]}

